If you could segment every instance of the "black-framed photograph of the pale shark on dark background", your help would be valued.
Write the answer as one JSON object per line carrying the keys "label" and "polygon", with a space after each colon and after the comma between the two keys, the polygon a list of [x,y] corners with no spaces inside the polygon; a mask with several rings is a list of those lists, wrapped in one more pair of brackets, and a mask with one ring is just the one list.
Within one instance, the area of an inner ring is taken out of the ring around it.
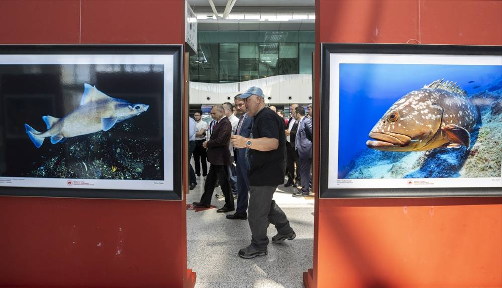
{"label": "black-framed photograph of the pale shark on dark background", "polygon": [[181,45],[0,46],[0,195],[181,200]]}

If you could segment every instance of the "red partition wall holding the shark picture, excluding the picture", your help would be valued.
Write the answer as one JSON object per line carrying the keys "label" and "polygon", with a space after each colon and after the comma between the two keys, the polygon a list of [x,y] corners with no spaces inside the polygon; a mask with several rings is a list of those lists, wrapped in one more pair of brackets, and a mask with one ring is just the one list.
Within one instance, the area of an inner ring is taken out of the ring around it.
{"label": "red partition wall holding the shark picture, excluding the picture", "polygon": [[[58,43],[183,44],[184,1],[0,1],[0,44]],[[0,287],[194,280],[185,201],[0,197]]]}

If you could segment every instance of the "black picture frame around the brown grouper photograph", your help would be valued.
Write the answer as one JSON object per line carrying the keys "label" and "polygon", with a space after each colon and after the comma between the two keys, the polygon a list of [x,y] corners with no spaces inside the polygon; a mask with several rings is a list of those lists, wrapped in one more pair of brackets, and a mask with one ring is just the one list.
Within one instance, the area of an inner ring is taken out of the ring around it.
{"label": "black picture frame around the brown grouper photograph", "polygon": [[[499,197],[502,196],[502,182],[495,187],[378,187],[378,188],[336,188],[329,185],[330,132],[330,72],[332,54],[374,54],[374,55],[479,55],[502,56],[502,46],[467,45],[418,45],[418,44],[359,44],[321,43],[320,81],[320,198],[407,198],[407,197]],[[502,59],[502,58],[501,58]],[[427,83],[424,83],[427,84]],[[421,87],[418,87],[421,88]],[[338,104],[337,104],[338,105]],[[336,120],[338,124],[338,119]],[[369,132],[369,131],[368,131]],[[338,133],[338,132],[337,132]],[[337,136],[338,137],[338,136]],[[338,139],[338,138],[337,138]],[[335,144],[338,153],[338,143]],[[338,157],[338,156],[337,156]],[[337,158],[338,159],[338,158]],[[338,160],[337,160],[338,161]],[[338,162],[337,162],[338,163]],[[338,167],[336,168],[338,171]],[[338,172],[337,172],[338,174]],[[331,175],[332,176],[332,175]],[[338,177],[338,176],[336,176]],[[336,178],[338,181],[338,178]],[[333,181],[333,180],[332,180]]]}

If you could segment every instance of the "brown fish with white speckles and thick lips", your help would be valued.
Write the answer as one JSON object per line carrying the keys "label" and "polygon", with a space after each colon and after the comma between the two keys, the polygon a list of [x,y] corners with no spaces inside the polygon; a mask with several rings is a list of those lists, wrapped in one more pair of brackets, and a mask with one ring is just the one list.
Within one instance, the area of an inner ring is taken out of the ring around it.
{"label": "brown fish with white speckles and thick lips", "polygon": [[436,80],[397,100],[378,120],[366,141],[386,151],[425,151],[470,146],[479,110],[456,82]]}

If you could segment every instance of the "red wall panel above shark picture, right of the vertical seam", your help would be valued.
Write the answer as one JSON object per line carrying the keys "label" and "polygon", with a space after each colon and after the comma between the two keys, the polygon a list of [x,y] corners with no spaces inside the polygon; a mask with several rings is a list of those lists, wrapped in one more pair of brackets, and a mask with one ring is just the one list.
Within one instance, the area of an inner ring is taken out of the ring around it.
{"label": "red wall panel above shark picture, right of the vertical seam", "polygon": [[82,1],[82,43],[183,44],[184,1]]}

